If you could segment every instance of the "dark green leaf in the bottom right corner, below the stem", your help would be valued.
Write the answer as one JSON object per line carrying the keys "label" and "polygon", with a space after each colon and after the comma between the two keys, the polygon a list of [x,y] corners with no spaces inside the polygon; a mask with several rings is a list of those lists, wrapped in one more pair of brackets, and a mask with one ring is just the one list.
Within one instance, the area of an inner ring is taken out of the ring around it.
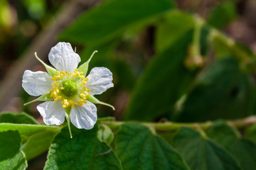
{"label": "dark green leaf in the bottom right corner, below the stem", "polygon": [[225,122],[214,123],[208,130],[208,136],[233,154],[242,169],[250,170],[256,167],[256,144],[240,138],[240,134]]}

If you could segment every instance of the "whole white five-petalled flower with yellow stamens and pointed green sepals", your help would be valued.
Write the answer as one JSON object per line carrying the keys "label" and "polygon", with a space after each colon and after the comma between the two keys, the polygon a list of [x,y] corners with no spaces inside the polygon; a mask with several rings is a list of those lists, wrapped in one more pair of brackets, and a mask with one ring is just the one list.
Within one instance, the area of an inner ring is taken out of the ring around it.
{"label": "whole white five-petalled flower with yellow stamens and pointed green sepals", "polygon": [[44,123],[60,125],[66,117],[68,123],[70,119],[77,128],[93,128],[97,120],[97,108],[93,103],[110,106],[93,95],[102,94],[114,86],[112,72],[105,67],[95,67],[85,77],[92,56],[77,69],[80,57],[66,42],[58,42],[48,57],[56,69],[38,59],[46,66],[48,73],[26,70],[22,80],[23,89],[28,94],[42,95],[34,101],[45,101],[37,106]]}

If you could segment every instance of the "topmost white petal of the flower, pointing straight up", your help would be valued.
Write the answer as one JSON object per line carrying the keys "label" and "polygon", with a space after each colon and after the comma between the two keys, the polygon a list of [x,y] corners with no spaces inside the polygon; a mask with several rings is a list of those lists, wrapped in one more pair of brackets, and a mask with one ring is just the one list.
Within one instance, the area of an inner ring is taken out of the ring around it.
{"label": "topmost white petal of the flower, pointing straight up", "polygon": [[50,64],[64,72],[74,72],[81,61],[79,55],[73,51],[70,43],[67,42],[58,42],[50,49],[48,57]]}

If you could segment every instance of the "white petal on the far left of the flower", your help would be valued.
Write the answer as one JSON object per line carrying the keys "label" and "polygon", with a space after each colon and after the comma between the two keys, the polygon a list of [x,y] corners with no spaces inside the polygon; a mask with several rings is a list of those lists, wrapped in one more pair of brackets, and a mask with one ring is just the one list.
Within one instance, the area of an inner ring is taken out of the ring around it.
{"label": "white petal on the far left of the flower", "polygon": [[31,96],[46,94],[53,87],[52,80],[46,72],[31,72],[26,70],[23,74],[22,87]]}

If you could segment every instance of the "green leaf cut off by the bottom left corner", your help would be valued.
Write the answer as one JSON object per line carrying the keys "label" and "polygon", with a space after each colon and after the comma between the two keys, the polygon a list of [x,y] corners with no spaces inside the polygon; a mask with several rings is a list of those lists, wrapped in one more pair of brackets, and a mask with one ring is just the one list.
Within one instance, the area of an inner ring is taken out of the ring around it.
{"label": "green leaf cut off by the bottom left corner", "polygon": [[21,136],[17,131],[0,132],[0,169],[26,169],[26,158],[20,147]]}

